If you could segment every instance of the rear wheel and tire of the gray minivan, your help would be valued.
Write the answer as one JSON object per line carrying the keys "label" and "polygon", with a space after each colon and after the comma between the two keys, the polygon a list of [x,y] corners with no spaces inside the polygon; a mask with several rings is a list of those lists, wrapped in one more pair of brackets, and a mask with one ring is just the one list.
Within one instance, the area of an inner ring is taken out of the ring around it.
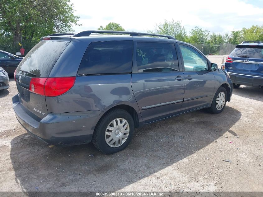
{"label": "rear wheel and tire of the gray minivan", "polygon": [[99,151],[112,154],[126,148],[133,134],[132,116],[125,110],[113,109],[99,120],[94,129],[92,143]]}

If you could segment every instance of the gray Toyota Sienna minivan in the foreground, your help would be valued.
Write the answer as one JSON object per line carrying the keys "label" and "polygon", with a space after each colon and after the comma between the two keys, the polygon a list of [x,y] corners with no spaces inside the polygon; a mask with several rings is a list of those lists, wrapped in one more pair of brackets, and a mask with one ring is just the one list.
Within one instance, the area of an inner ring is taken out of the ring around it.
{"label": "gray Toyota Sienna minivan in the foreground", "polygon": [[202,108],[218,114],[232,95],[228,73],[194,46],[126,31],[43,37],[15,80],[13,108],[30,134],[52,145],[92,141],[106,154],[126,148],[135,128]]}

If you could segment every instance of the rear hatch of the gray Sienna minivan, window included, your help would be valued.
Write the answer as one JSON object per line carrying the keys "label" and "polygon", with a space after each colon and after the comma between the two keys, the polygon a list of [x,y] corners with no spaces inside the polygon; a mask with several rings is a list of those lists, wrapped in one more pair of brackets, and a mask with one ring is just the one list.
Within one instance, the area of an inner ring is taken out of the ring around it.
{"label": "rear hatch of the gray Sienna minivan, window included", "polygon": [[48,110],[45,95],[39,93],[44,92],[44,86],[34,87],[32,82],[45,82],[69,42],[70,39],[56,40],[54,37],[41,39],[16,69],[15,80],[21,107],[37,121],[48,115]]}

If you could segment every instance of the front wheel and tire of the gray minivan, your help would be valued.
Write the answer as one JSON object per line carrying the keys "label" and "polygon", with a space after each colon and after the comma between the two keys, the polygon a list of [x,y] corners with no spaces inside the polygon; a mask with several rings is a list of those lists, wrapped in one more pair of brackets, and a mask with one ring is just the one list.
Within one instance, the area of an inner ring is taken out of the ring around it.
{"label": "front wheel and tire of the gray minivan", "polygon": [[208,108],[209,113],[219,114],[221,113],[227,103],[227,91],[224,87],[219,87],[215,93],[211,107]]}

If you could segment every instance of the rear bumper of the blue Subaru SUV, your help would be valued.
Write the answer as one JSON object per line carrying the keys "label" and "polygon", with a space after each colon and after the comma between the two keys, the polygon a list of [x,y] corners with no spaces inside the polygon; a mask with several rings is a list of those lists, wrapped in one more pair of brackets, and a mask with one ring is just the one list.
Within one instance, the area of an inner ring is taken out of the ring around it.
{"label": "rear bumper of the blue Subaru SUV", "polygon": [[246,74],[232,73],[231,71],[229,71],[228,74],[231,78],[232,83],[237,83],[244,86],[253,86],[253,87],[259,87],[260,85],[263,84],[263,75],[262,77],[259,77],[249,74],[246,75]]}

